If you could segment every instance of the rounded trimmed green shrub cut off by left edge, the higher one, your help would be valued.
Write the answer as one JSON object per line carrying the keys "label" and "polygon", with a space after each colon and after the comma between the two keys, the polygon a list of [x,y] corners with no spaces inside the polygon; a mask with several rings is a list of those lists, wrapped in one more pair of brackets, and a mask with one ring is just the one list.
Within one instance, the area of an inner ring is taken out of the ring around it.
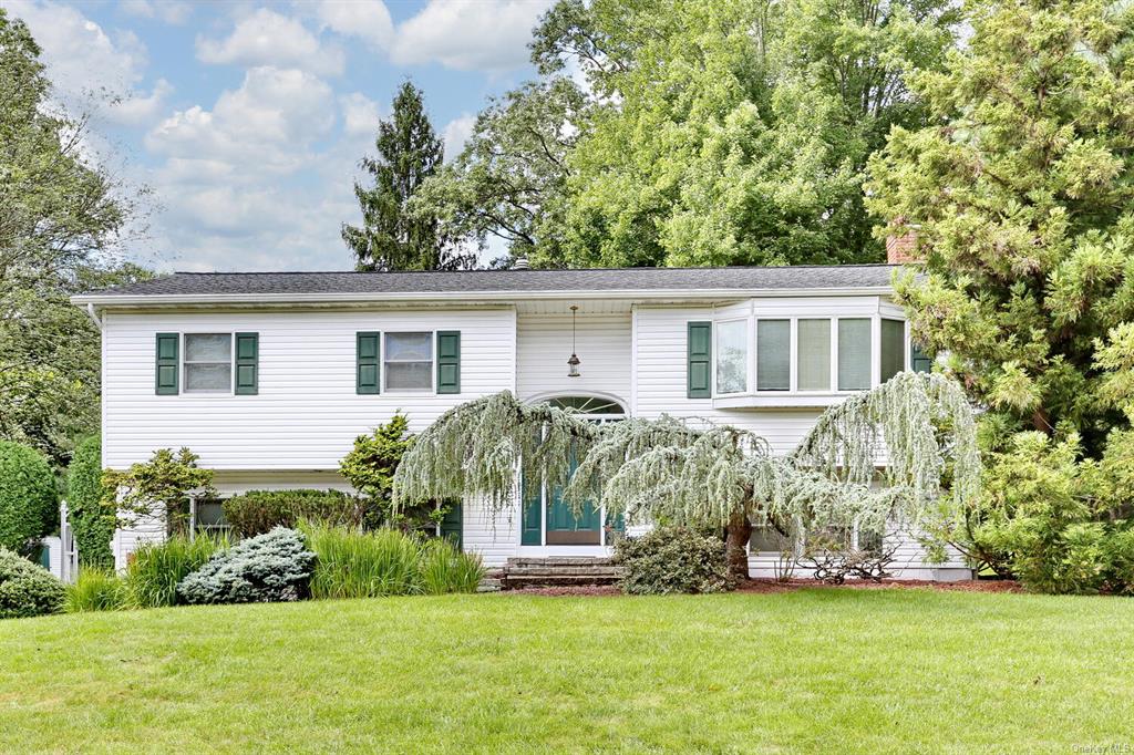
{"label": "rounded trimmed green shrub cut off by left edge, the higher one", "polygon": [[0,548],[23,553],[59,519],[56,476],[34,448],[0,441]]}

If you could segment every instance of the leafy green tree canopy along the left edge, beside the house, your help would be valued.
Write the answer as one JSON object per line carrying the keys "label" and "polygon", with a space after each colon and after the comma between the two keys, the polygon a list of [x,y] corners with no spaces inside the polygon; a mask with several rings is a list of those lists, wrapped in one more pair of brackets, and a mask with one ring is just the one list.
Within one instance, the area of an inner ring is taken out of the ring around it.
{"label": "leafy green tree canopy along the left edge, beside the house", "polygon": [[117,260],[135,201],[50,92],[27,26],[0,9],[0,438],[61,467],[99,426],[99,333],[68,296],[150,273]]}

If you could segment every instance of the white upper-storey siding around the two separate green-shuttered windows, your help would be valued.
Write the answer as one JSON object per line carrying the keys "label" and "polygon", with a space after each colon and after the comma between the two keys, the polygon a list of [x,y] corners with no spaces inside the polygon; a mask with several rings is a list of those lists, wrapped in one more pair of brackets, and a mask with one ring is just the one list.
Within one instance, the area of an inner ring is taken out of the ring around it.
{"label": "white upper-storey siding around the two separate green-shuttered windows", "polygon": [[[398,409],[416,433],[458,404],[515,390],[515,322],[507,307],[108,312],[103,461],[122,469],[155,449],[186,446],[201,456],[201,466],[218,470],[338,469],[355,436]],[[356,333],[437,330],[462,331],[459,395],[356,393]],[[260,334],[254,401],[231,392],[154,395],[155,333],[244,331]]]}

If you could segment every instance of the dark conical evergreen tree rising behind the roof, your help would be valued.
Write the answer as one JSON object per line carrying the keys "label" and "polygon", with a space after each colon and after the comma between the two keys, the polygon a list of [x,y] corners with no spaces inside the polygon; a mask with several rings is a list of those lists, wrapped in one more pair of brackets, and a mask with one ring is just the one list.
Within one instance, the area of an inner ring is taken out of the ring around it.
{"label": "dark conical evergreen tree rising behind the roof", "polygon": [[468,266],[467,256],[448,253],[437,215],[414,212],[409,200],[435,173],[445,158],[441,139],[425,113],[422,92],[409,82],[393,97],[393,113],[378,125],[378,156],[362,167],[373,187],[355,181],[362,207],[361,228],[342,224],[342,240],[354,252],[356,266],[378,270],[454,270]]}

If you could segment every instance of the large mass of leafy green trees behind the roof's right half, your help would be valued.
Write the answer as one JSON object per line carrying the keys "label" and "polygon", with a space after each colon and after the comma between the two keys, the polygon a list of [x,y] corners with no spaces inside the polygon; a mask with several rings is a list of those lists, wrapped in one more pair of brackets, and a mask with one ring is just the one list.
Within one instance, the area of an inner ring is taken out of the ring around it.
{"label": "large mass of leafy green trees behind the roof's right half", "polygon": [[877,261],[866,160],[925,122],[905,78],[942,65],[950,5],[560,0],[542,83],[482,114],[425,205],[544,266]]}

